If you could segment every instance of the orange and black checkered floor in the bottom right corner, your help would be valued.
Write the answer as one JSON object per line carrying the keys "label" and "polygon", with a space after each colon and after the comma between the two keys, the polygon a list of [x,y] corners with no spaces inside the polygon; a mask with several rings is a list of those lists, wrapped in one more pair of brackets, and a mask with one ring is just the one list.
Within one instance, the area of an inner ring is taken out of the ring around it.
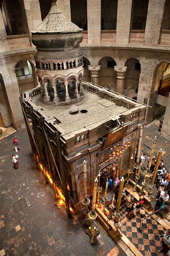
{"label": "orange and black checkered floor in the bottom right corner", "polygon": [[148,213],[141,209],[137,216],[126,221],[121,227],[121,231],[136,246],[136,248],[145,256],[162,256],[163,253],[157,253],[160,249],[160,235],[165,229],[154,221],[141,232],[137,229],[140,226],[141,219]]}

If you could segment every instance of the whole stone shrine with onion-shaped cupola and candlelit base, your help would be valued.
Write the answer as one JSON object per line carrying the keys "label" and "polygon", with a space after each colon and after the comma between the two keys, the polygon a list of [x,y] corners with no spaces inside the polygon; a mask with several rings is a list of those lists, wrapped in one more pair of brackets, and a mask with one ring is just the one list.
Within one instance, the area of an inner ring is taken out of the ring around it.
{"label": "whole stone shrine with onion-shaped cupola and candlelit base", "polygon": [[[63,191],[69,202],[67,211],[74,217],[84,213],[83,161],[88,163],[89,197],[99,170],[103,179],[106,175],[126,176],[129,164],[134,166],[134,158],[129,159],[135,155],[147,109],[140,102],[82,81],[81,31],[53,1],[48,16],[32,31],[41,85],[20,98],[35,159],[46,181],[53,185],[56,198]],[[90,70],[95,79],[99,66]],[[123,72],[126,67],[117,70],[118,86],[124,83]]]}

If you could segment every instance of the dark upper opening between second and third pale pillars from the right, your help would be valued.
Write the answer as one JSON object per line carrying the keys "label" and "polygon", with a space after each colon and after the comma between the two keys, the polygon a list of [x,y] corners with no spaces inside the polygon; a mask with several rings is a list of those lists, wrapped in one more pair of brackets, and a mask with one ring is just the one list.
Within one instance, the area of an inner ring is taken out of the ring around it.
{"label": "dark upper opening between second and third pale pillars from the right", "polygon": [[101,0],[101,30],[116,30],[117,0]]}

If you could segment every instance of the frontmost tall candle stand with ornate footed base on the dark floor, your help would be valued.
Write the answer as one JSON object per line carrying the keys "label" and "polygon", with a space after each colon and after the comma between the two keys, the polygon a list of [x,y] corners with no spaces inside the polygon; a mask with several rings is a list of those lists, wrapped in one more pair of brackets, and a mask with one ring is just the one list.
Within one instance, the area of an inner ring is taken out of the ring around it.
{"label": "frontmost tall candle stand with ornate footed base on the dark floor", "polygon": [[90,227],[86,229],[86,234],[89,235],[91,239],[91,244],[94,243],[94,239],[97,237],[97,235],[100,234],[100,231],[96,229],[94,226],[94,220],[97,218],[97,213],[95,212],[95,206],[96,206],[96,195],[97,195],[97,187],[98,187],[98,179],[95,178],[94,180],[94,189],[93,189],[93,200],[92,200],[92,207],[91,211],[89,212],[89,218],[91,220]]}

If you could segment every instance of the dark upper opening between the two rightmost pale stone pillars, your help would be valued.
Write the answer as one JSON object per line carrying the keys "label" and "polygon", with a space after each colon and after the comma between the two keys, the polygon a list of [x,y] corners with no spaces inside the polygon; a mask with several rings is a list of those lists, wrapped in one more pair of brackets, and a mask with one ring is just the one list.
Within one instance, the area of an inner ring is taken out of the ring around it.
{"label": "dark upper opening between the two rightmost pale stone pillars", "polygon": [[149,0],[134,0],[132,30],[145,30]]}

